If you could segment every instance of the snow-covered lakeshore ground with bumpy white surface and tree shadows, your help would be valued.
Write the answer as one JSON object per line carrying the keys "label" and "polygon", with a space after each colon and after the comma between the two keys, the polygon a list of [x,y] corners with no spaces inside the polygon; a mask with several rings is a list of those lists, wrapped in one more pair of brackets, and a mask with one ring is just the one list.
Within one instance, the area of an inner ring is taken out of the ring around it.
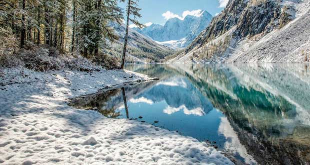
{"label": "snow-covered lakeshore ground with bumpy white surface and tree shadows", "polygon": [[0,164],[233,164],[219,151],[135,120],[111,119],[67,98],[129,81],[128,70],[0,71]]}

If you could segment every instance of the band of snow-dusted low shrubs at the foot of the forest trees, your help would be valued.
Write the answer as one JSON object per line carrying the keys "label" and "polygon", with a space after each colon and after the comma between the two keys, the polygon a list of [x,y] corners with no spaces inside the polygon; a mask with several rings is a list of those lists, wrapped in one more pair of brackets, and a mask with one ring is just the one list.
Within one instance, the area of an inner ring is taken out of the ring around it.
{"label": "band of snow-dusted low shrubs at the foot of the forest trees", "polygon": [[31,42],[15,53],[0,54],[0,68],[25,67],[35,71],[75,70],[98,71],[115,69],[118,60],[106,54],[92,55],[89,59],[79,54],[61,54],[54,47],[38,46]]}

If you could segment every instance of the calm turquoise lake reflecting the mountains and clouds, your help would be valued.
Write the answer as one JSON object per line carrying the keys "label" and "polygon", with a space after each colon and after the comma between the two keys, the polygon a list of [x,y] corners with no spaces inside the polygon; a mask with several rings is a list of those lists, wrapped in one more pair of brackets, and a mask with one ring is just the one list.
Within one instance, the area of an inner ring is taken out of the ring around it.
{"label": "calm turquoise lake reflecting the mountains and clouds", "polygon": [[126,69],[160,80],[77,97],[71,104],[209,141],[244,163],[310,164],[308,64],[146,64]]}

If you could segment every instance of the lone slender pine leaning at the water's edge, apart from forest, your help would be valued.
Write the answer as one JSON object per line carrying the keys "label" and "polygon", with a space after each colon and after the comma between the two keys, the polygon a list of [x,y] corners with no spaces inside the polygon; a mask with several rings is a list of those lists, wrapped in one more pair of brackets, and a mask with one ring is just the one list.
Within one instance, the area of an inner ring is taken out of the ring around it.
{"label": "lone slender pine leaning at the water's edge, apart from forest", "polygon": [[[127,41],[128,41],[128,28],[129,28],[129,20],[135,24],[138,28],[144,27],[143,24],[139,23],[138,20],[136,19],[137,17],[141,17],[141,14],[139,11],[141,8],[136,7],[137,6],[138,0],[128,0],[127,3],[127,8],[126,8],[126,31],[125,31],[125,37],[124,37],[124,46],[122,50],[122,58],[121,58],[121,65],[120,68],[124,68],[125,64],[125,55],[126,55],[126,48],[127,48]],[[130,18],[130,15],[133,15],[133,18]]]}

